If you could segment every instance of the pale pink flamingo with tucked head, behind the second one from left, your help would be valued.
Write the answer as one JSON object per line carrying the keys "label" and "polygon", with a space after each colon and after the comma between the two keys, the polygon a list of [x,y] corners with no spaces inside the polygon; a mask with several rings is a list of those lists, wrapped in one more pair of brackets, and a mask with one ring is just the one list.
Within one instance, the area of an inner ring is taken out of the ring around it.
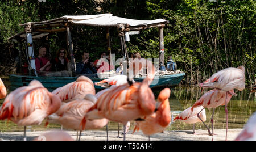
{"label": "pale pink flamingo with tucked head, behind the second one from left", "polygon": [[69,102],[72,99],[82,99],[86,94],[95,95],[95,88],[91,79],[80,76],[75,82],[59,87],[52,93],[58,95],[63,102]]}

